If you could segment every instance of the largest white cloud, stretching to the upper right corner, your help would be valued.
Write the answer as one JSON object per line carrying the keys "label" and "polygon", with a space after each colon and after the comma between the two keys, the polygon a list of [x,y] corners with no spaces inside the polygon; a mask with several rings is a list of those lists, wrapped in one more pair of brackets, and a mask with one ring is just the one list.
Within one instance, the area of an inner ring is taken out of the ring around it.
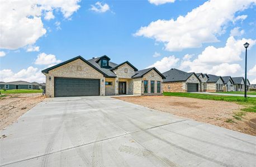
{"label": "largest white cloud, stretching to the upper right corner", "polygon": [[212,0],[176,20],[158,19],[146,27],[141,27],[135,36],[154,38],[165,43],[168,51],[181,51],[184,48],[201,47],[202,43],[218,42],[217,36],[225,33],[226,26],[235,19],[235,14],[249,8],[255,0],[233,1]]}

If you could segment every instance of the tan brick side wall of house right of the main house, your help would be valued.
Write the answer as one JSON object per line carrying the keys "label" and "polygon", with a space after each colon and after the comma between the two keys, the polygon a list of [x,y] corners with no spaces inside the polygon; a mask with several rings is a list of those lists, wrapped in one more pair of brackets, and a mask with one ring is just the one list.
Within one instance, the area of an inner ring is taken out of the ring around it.
{"label": "tan brick side wall of house right of the main house", "polygon": [[163,90],[164,92],[187,92],[186,82],[165,82]]}

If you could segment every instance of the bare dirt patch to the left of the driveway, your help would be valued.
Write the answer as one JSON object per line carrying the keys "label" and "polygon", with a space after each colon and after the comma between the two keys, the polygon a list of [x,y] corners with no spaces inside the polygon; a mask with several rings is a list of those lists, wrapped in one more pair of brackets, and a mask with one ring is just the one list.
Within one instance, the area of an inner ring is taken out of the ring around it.
{"label": "bare dirt patch to the left of the driveway", "polygon": [[0,97],[0,130],[15,122],[44,98],[41,93],[10,94],[7,97]]}

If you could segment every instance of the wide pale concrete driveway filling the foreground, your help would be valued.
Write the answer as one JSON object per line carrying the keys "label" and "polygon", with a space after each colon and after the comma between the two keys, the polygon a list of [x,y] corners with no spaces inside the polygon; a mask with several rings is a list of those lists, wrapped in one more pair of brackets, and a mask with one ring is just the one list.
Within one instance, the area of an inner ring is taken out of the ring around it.
{"label": "wide pale concrete driveway filling the foreground", "polygon": [[111,97],[46,99],[1,131],[1,166],[255,166],[256,137]]}

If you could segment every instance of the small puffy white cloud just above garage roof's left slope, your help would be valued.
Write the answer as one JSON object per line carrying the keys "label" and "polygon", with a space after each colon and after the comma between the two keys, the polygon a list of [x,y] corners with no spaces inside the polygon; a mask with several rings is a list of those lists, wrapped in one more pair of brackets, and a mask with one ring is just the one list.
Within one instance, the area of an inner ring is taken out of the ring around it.
{"label": "small puffy white cloud just above garage roof's left slope", "polygon": [[61,60],[57,60],[55,55],[49,54],[47,55],[46,53],[40,53],[37,56],[37,59],[35,61],[36,65],[56,65],[60,63]]}

